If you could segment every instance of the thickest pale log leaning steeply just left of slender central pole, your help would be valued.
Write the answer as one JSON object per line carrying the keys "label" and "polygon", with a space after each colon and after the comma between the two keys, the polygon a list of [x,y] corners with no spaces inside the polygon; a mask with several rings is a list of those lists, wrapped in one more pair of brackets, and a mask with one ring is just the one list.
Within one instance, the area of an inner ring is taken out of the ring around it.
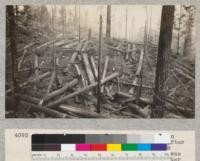
{"label": "thickest pale log leaning steeply just left of slender central pole", "polygon": [[83,53],[82,56],[83,56],[83,62],[84,62],[85,68],[86,68],[86,72],[88,75],[88,80],[89,80],[90,84],[92,84],[95,82],[95,79],[94,79],[94,75],[92,73],[92,69],[91,69],[91,66],[90,66],[90,63],[88,60],[88,55],[86,53]]}

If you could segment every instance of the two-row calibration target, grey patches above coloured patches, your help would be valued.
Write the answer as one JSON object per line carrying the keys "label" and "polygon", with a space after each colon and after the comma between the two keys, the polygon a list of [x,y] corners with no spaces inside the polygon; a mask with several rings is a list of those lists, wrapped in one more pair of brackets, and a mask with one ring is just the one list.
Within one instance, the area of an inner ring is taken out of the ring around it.
{"label": "two-row calibration target, grey patches above coloured patches", "polygon": [[169,135],[162,134],[32,135],[32,151],[166,151],[169,143]]}

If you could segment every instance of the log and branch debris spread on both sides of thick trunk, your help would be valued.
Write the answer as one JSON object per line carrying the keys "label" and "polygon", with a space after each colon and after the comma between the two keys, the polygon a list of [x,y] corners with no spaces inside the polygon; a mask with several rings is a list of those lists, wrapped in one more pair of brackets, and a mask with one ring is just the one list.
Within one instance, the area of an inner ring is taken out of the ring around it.
{"label": "log and branch debris spread on both sides of thick trunk", "polygon": [[[23,79],[18,80],[16,89],[8,86],[7,107],[12,106],[10,99],[14,100],[17,117],[150,118],[157,50],[152,45],[147,52],[143,46],[121,40],[103,41],[101,112],[97,113],[97,39],[79,42],[78,38],[57,38],[34,48],[27,45],[18,58],[17,74]],[[186,95],[182,90],[194,92],[188,89],[194,83],[193,69],[183,61],[174,64],[168,81],[176,79],[178,83],[167,86],[170,92],[165,115],[192,117],[188,112],[193,113],[194,97],[188,93],[186,100],[181,94]],[[177,103],[177,97],[183,104],[190,100],[189,108]],[[9,110],[7,115],[11,115]]]}

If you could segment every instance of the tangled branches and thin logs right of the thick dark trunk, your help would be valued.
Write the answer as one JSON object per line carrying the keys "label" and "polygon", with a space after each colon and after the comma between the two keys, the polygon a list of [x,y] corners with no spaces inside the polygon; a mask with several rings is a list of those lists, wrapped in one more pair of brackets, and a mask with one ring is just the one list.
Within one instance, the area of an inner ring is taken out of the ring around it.
{"label": "tangled branches and thin logs right of the thick dark trunk", "polygon": [[195,70],[189,58],[172,60],[167,82],[168,117],[193,118],[195,113]]}

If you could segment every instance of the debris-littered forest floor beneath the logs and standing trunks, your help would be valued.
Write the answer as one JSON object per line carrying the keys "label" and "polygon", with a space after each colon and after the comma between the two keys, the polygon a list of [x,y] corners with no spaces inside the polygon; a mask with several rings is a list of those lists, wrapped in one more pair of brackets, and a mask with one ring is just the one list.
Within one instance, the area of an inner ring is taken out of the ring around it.
{"label": "debris-littered forest floor beneath the logs and standing trunks", "polygon": [[[66,38],[57,36],[53,43],[44,45],[39,50],[36,47],[51,42],[51,38],[41,37],[41,35],[18,40],[18,63],[22,60],[24,47],[30,45],[26,49],[26,56],[20,70],[16,72],[18,84],[28,83],[23,87],[15,89],[16,95],[6,92],[6,117],[50,117],[46,113],[35,110],[32,104],[41,106],[41,100],[62,89],[66,84],[78,79],[78,83],[68,90],[56,95],[52,99],[44,102],[41,108],[45,108],[51,103],[60,100],[71,93],[79,91],[90,86],[97,81],[94,69],[91,65],[91,57],[94,58],[94,63],[97,69],[98,65],[98,38],[81,39],[81,45],[78,43],[78,37],[67,35]],[[84,36],[86,37],[86,36]],[[23,40],[23,41],[22,41]],[[80,47],[81,46],[81,47]],[[74,63],[70,60],[79,47],[78,55]],[[151,106],[153,102],[153,88],[156,70],[157,47],[149,45],[148,52],[145,52],[143,61],[141,59],[141,51],[143,44],[126,42],[124,40],[112,40],[110,42],[103,40],[102,44],[102,63],[101,72],[105,68],[106,59],[108,66],[105,70],[105,78],[117,72],[117,79],[112,79],[102,85],[101,93],[101,113],[98,114],[97,109],[97,94],[96,87],[86,92],[80,93],[70,99],[62,102],[62,108],[54,108],[54,111],[65,113],[65,117],[80,118],[80,117],[106,117],[106,118],[150,118]],[[132,50],[131,52],[127,52]],[[11,65],[9,57],[9,47],[7,49],[6,61],[6,90],[12,88],[11,81]],[[38,55],[38,71],[39,75],[50,72],[48,77],[39,81],[31,82],[36,78],[35,54]],[[88,75],[87,65],[83,60],[83,54],[89,60],[94,82]],[[53,62],[52,57],[56,60],[56,75],[57,78],[53,81],[51,91],[47,89],[52,77]],[[69,65],[71,63],[71,65]],[[142,79],[137,78],[137,70],[139,63],[142,63]],[[75,67],[75,64],[78,66]],[[77,68],[80,70],[78,72]],[[169,78],[166,82],[167,103],[164,110],[164,118],[193,118],[194,117],[194,70],[195,66],[188,58],[170,57]],[[26,70],[24,70],[26,69]],[[80,74],[81,73],[81,74]],[[31,83],[30,83],[31,82]],[[134,83],[133,83],[134,82]],[[137,99],[138,89],[141,87],[141,95]],[[25,97],[27,96],[27,97]],[[28,104],[24,104],[28,102]],[[17,105],[17,106],[16,106]],[[18,112],[16,112],[18,111]]]}

